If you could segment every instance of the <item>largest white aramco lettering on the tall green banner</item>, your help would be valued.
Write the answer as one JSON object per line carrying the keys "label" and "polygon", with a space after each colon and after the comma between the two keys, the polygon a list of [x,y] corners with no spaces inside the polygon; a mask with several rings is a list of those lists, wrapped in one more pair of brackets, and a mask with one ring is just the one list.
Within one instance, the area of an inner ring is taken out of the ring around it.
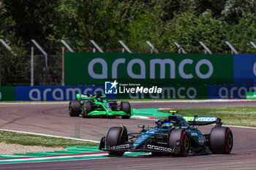
{"label": "largest white aramco lettering on the tall green banner", "polygon": [[[182,79],[193,79],[195,75],[200,79],[206,80],[211,77],[214,73],[214,66],[211,61],[207,59],[201,59],[200,61],[193,61],[190,58],[185,58],[180,63],[177,61],[173,61],[170,58],[160,59],[154,58],[148,61],[143,61],[139,58],[135,58],[127,62],[126,58],[118,58],[113,63],[107,63],[104,58],[94,58],[88,64],[88,73],[91,78],[94,79],[107,79],[108,77],[108,70],[112,70],[111,78],[116,79],[118,78],[117,75],[117,68],[119,64],[125,64],[127,66],[126,70],[128,77],[132,79],[140,79],[145,80],[146,78],[150,78],[151,80],[156,79],[157,74],[157,65],[159,65],[159,77],[160,79],[176,79],[176,67],[178,68],[178,74]],[[94,72],[94,64],[99,64],[102,68],[101,73]],[[112,64],[112,65],[111,65]],[[140,72],[135,73],[132,69],[134,65],[140,66]],[[193,71],[187,73],[184,69],[186,65],[193,66]],[[200,71],[201,66],[206,65],[208,67],[208,72],[203,73]],[[170,75],[167,77],[165,67],[170,68]],[[111,69],[110,69],[111,68]],[[147,70],[149,70],[149,77],[146,74]],[[114,72],[113,72],[114,71]]]}

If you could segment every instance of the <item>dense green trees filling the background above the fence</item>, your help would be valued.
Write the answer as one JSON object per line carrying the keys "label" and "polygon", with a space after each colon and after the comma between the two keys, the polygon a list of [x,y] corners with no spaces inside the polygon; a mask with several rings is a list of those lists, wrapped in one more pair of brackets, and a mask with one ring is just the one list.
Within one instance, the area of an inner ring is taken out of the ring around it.
{"label": "dense green trees filling the background above the fence", "polygon": [[91,51],[94,39],[106,52],[121,52],[123,40],[148,53],[151,41],[160,52],[177,53],[176,41],[189,53],[203,53],[202,41],[214,53],[229,53],[230,41],[249,53],[248,41],[255,40],[255,0],[4,0],[0,7],[0,36],[16,36],[21,46],[33,38],[59,48],[65,39],[77,51]]}

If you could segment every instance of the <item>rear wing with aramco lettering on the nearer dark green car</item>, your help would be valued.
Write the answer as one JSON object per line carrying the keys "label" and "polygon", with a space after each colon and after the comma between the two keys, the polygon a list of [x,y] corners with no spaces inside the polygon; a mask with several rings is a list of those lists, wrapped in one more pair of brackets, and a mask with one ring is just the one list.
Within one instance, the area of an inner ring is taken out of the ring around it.
{"label": "rear wing with aramco lettering on the nearer dark green car", "polygon": [[222,125],[222,119],[219,117],[197,117],[197,115],[195,115],[194,117],[184,116],[183,118],[184,120],[187,120],[189,125],[210,125],[213,123],[217,123],[217,125]]}

